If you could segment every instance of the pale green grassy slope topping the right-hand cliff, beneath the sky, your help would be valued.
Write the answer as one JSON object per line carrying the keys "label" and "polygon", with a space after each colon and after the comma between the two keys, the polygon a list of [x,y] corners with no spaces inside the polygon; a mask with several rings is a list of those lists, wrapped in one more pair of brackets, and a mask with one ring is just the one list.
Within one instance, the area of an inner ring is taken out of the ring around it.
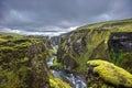
{"label": "pale green grassy slope topping the right-hand cliff, beneath the sky", "polygon": [[132,32],[132,19],[87,24],[78,28],[77,30],[81,30],[81,29],[99,30],[99,28],[111,30],[111,32],[124,32],[124,31]]}

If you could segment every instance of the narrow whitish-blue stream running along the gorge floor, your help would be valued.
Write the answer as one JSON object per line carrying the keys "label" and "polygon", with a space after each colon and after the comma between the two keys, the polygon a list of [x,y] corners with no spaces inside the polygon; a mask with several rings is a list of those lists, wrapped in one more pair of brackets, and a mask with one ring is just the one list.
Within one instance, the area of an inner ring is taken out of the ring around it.
{"label": "narrow whitish-blue stream running along the gorge floor", "polygon": [[[55,56],[50,57],[50,59],[47,61],[48,66],[53,65],[54,58]],[[67,80],[69,84],[74,86],[74,88],[87,88],[86,80],[82,75],[75,75],[69,73],[67,74],[64,70],[54,70],[54,69],[51,69],[51,72],[55,77]]]}

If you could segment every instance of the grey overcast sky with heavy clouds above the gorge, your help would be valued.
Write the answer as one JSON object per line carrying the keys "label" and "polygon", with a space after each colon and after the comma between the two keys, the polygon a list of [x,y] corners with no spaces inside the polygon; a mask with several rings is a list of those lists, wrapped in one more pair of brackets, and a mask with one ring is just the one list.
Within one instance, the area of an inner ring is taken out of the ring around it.
{"label": "grey overcast sky with heavy clouds above the gorge", "polygon": [[132,0],[0,0],[1,32],[63,33],[84,24],[129,18]]}

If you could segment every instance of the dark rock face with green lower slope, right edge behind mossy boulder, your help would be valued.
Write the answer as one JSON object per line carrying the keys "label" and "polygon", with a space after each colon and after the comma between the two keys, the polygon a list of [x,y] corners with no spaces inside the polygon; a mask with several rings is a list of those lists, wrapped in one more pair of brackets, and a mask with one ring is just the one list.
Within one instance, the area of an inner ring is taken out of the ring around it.
{"label": "dark rock face with green lower slope, right edge behind mossy boulder", "polygon": [[111,33],[108,45],[113,63],[132,73],[132,32]]}

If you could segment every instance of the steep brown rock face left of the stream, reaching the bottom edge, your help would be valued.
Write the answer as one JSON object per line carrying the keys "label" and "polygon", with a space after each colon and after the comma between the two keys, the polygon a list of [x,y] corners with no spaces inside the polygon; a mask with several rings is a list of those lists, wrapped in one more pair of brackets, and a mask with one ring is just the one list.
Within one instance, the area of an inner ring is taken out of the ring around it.
{"label": "steep brown rock face left of the stream, reaching the bottom edge", "polygon": [[46,65],[47,53],[46,50],[42,51],[43,46],[38,45],[43,45],[43,43],[36,43],[29,47],[29,65],[32,68],[28,77],[29,88],[50,87],[50,69]]}

